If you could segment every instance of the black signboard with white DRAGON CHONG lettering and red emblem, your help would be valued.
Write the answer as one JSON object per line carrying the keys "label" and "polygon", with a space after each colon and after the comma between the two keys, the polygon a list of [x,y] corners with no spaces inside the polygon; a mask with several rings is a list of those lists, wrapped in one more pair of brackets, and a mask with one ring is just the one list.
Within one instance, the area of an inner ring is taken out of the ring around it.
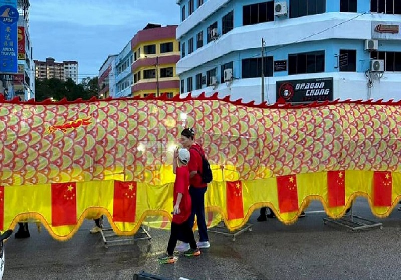
{"label": "black signboard with white DRAGON CHONG lettering and red emblem", "polygon": [[286,103],[333,101],[333,78],[277,81],[276,98]]}

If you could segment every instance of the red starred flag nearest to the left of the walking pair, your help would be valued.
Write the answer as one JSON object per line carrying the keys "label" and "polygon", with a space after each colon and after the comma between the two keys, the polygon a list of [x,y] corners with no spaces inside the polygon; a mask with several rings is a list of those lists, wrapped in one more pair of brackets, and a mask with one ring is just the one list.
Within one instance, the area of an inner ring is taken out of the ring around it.
{"label": "red starred flag nearest to the left of the walking pair", "polygon": [[135,222],[136,182],[114,182],[113,221]]}

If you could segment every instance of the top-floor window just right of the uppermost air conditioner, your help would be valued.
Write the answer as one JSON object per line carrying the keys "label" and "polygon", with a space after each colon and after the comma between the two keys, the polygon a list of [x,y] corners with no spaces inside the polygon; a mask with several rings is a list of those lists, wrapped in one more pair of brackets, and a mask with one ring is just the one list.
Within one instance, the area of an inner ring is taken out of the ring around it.
{"label": "top-floor window just right of the uppermost air conditioner", "polygon": [[326,0],[290,0],[290,18],[326,12]]}

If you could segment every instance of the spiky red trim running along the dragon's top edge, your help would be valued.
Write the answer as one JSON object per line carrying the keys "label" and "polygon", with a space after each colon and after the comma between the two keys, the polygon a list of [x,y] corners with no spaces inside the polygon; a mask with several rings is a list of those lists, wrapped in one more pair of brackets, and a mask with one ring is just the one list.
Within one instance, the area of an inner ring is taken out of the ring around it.
{"label": "spiky red trim running along the dragon's top edge", "polygon": [[174,96],[172,99],[168,99],[166,94],[161,95],[160,97],[154,97],[154,96],[148,96],[148,97],[140,97],[140,96],[135,96],[135,97],[121,97],[121,98],[111,98],[108,97],[106,99],[98,99],[96,97],[92,97],[89,100],[83,100],[82,98],[79,98],[75,101],[67,101],[66,98],[61,99],[60,101],[53,102],[51,99],[46,99],[43,100],[42,102],[36,102],[35,100],[31,99],[28,101],[20,101],[18,97],[13,98],[12,100],[5,100],[4,96],[0,95],[0,103],[7,103],[7,104],[30,104],[30,105],[66,105],[66,104],[80,104],[80,103],[94,103],[94,102],[110,102],[110,101],[116,101],[116,100],[156,100],[156,101],[170,101],[170,102],[185,102],[189,100],[211,100],[211,101],[222,101],[226,103],[231,103],[236,106],[246,106],[246,107],[254,107],[254,108],[261,108],[261,109],[294,109],[294,108],[315,108],[315,107],[322,107],[322,106],[327,106],[327,105],[333,105],[333,104],[340,104],[340,103],[345,103],[345,104],[369,104],[369,105],[383,105],[383,106],[399,106],[401,105],[401,100],[394,102],[394,99],[390,99],[386,102],[383,102],[383,99],[379,99],[377,101],[373,101],[372,99],[363,101],[363,100],[351,100],[351,99],[346,99],[340,101],[340,99],[336,99],[334,101],[324,101],[324,102],[313,102],[307,105],[292,105],[290,103],[286,103],[284,99],[280,98],[276,103],[268,105],[266,102],[260,103],[260,104],[255,104],[255,101],[250,101],[248,103],[245,103],[242,101],[242,98],[237,99],[237,100],[231,100],[230,95],[225,96],[223,98],[218,97],[218,92],[213,93],[212,96],[206,97],[205,92],[202,92],[199,96],[197,97],[192,97],[192,93],[189,93],[186,97],[180,98],[179,95]]}

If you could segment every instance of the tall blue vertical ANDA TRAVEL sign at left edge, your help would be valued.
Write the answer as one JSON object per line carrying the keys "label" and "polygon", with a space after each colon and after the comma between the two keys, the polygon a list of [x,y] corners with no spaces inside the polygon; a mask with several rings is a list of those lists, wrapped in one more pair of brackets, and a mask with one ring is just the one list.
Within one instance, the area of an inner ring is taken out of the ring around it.
{"label": "tall blue vertical ANDA TRAVEL sign at left edge", "polygon": [[17,73],[17,24],[17,9],[0,6],[0,72]]}

